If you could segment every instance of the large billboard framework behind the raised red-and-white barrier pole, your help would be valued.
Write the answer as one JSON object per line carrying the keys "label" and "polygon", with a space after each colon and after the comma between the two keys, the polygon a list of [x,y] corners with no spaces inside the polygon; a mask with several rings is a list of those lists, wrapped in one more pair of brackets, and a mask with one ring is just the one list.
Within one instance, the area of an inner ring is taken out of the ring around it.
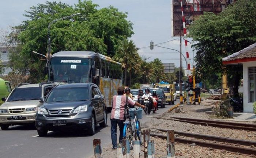
{"label": "large billboard framework behind the raised red-and-white barrier pole", "polygon": [[[188,26],[193,22],[196,16],[203,15],[203,12],[218,14],[234,1],[235,0],[182,0],[185,24]],[[180,0],[171,0],[171,27],[172,36],[184,35]]]}

